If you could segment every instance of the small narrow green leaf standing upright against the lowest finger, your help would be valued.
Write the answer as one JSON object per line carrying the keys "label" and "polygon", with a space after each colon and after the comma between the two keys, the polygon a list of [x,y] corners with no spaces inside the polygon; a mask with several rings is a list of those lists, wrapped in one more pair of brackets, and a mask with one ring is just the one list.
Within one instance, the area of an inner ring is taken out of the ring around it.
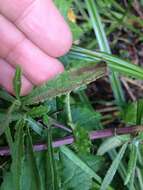
{"label": "small narrow green leaf standing upright against the lowest finger", "polygon": [[20,99],[20,91],[21,91],[21,69],[19,66],[16,66],[16,72],[13,79],[13,89],[15,92],[15,96],[17,99]]}

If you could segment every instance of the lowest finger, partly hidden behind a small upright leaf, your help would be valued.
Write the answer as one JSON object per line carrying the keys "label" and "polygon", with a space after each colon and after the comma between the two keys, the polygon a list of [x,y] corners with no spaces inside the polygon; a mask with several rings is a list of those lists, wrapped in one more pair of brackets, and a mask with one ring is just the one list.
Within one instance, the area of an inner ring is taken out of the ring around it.
{"label": "lowest finger, partly hidden behind a small upright leaf", "polygon": [[[6,61],[0,59],[0,85],[12,94],[14,94],[12,84],[14,74],[15,69],[10,66]],[[21,95],[26,95],[28,92],[31,91],[31,89],[32,84],[23,76]]]}

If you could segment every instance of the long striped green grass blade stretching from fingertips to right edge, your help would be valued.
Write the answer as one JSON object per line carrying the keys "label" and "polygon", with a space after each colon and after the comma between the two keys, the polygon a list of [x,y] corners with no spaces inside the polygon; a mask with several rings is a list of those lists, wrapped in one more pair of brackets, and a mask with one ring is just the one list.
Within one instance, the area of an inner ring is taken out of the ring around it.
{"label": "long striped green grass blade stretching from fingertips to right edge", "polygon": [[74,59],[76,58],[85,61],[92,61],[93,63],[95,61],[105,61],[114,71],[126,74],[130,77],[135,77],[137,79],[143,79],[142,67],[104,52],[96,52],[79,47],[73,47],[69,56]]}

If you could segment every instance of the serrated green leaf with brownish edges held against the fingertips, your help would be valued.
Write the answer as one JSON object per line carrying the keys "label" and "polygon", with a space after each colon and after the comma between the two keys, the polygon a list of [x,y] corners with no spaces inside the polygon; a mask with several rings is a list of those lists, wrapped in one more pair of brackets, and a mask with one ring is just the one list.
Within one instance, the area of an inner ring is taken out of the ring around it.
{"label": "serrated green leaf with brownish edges held against the fingertips", "polygon": [[23,104],[32,105],[56,96],[67,94],[85,84],[89,84],[103,77],[105,73],[105,66],[92,64],[85,64],[84,67],[80,66],[70,71],[65,71],[55,79],[34,89],[28,96],[23,98]]}

